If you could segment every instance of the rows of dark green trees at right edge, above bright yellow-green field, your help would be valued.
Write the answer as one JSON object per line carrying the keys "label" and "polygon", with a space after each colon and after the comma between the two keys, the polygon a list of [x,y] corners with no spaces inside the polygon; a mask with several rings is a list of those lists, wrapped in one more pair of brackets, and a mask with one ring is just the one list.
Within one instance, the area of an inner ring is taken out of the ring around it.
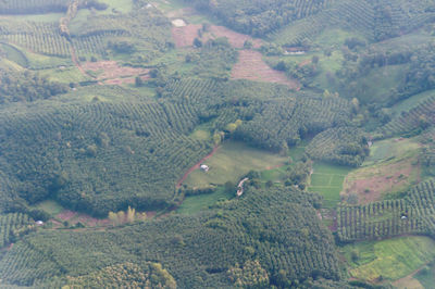
{"label": "rows of dark green trees at right edge, above bright yellow-green field", "polygon": [[338,209],[341,241],[381,239],[406,234],[435,236],[435,183],[421,183],[399,200]]}

